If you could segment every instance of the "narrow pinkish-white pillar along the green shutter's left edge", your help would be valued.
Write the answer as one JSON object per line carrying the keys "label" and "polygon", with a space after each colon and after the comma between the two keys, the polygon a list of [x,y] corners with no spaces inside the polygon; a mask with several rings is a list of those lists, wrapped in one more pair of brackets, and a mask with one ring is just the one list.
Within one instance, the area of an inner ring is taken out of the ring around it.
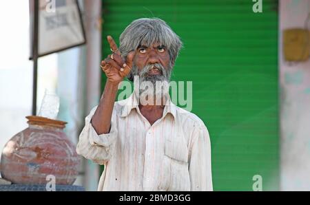
{"label": "narrow pinkish-white pillar along the green shutter's left edge", "polygon": [[[84,115],[99,104],[101,98],[101,0],[84,0],[85,27],[87,32],[87,47],[85,50],[86,87]],[[83,117],[85,117],[83,116]],[[83,160],[85,176],[83,186],[87,191],[96,191],[99,183],[99,165],[90,160]]]}

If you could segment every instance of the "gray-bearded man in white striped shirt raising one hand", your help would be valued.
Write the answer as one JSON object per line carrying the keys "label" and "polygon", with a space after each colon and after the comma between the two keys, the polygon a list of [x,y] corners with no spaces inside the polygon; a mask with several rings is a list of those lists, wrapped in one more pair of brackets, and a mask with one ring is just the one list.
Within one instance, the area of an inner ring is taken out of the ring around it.
{"label": "gray-bearded man in white striped shirt raising one hand", "polygon": [[174,105],[163,87],[134,89],[115,102],[125,76],[169,82],[179,37],[161,19],[138,19],[121,34],[119,49],[111,36],[107,41],[112,54],[101,62],[107,83],[76,148],[105,165],[98,191],[212,191],[211,145],[200,118]]}

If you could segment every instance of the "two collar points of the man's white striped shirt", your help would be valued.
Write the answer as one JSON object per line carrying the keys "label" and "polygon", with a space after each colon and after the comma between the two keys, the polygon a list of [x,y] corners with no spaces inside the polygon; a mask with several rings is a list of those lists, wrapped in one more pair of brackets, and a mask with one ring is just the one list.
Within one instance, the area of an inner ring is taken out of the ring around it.
{"label": "two collar points of the man's white striped shirt", "polygon": [[[174,118],[176,118],[176,105],[174,105],[174,103],[172,102],[169,94],[167,95],[167,102],[165,104],[165,109],[163,111],[163,117],[165,117],[168,113],[172,114],[172,116],[174,116]],[[122,108],[121,108],[121,117],[127,117],[130,114],[130,111],[132,111],[132,109],[136,109],[137,111],[139,111],[139,107],[138,107],[138,99],[136,98],[136,95],[134,94],[134,92],[130,95],[129,98],[123,100],[123,103],[121,104]]]}

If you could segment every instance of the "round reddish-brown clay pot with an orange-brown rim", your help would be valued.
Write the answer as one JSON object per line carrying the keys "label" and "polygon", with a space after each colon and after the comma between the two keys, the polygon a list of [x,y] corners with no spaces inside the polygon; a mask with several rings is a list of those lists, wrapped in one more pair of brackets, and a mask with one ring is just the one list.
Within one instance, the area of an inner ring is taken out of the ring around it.
{"label": "round reddish-brown clay pot with an orange-brown rim", "polygon": [[9,140],[1,155],[1,177],[14,184],[46,184],[54,175],[56,184],[73,184],[79,157],[65,136],[67,122],[28,116],[27,129]]}

